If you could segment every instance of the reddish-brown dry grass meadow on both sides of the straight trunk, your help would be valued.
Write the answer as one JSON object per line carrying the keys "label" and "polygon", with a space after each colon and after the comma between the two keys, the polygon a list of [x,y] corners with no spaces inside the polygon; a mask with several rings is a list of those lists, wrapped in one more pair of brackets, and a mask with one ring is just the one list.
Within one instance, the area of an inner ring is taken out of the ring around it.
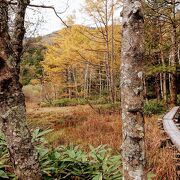
{"label": "reddish-brown dry grass meadow on both sides of the straight trunk", "polygon": [[[75,144],[88,151],[89,144],[107,144],[120,153],[122,143],[120,113],[106,111],[98,114],[88,105],[73,107],[36,108],[28,106],[31,129],[53,129],[46,138],[52,147]],[[173,150],[160,147],[163,137],[157,126],[157,116],[145,118],[147,172],[157,180],[175,179]]]}

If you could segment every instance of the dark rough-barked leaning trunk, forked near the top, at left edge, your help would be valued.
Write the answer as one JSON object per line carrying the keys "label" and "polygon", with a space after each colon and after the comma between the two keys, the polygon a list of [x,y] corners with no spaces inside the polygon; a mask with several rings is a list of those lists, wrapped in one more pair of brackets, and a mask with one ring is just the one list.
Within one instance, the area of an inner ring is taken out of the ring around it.
{"label": "dark rough-barked leaning trunk, forked near the top, at left edge", "polygon": [[17,3],[11,41],[8,33],[8,4],[0,0],[0,121],[16,175],[20,180],[39,180],[39,163],[26,124],[25,98],[19,83],[24,16],[28,3]]}

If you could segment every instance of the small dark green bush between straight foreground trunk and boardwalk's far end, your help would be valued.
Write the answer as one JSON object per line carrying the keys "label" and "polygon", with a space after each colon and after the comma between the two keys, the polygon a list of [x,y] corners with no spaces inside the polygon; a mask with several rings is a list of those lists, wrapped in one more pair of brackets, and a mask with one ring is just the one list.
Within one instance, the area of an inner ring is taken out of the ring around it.
{"label": "small dark green bush between straight foreground trunk and boardwalk's far end", "polygon": [[163,107],[162,103],[158,103],[156,100],[150,100],[144,105],[144,114],[151,116],[153,114],[162,114],[166,109]]}

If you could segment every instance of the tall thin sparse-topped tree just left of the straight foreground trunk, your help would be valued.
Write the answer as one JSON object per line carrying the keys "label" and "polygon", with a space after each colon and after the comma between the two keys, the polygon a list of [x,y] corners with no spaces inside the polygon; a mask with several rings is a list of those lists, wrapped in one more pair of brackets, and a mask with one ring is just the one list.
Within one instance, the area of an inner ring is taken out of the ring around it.
{"label": "tall thin sparse-topped tree just left of the straight foreground trunk", "polygon": [[105,44],[104,63],[106,66],[107,90],[111,102],[114,103],[116,101],[114,75],[114,13],[119,4],[119,0],[86,0],[85,4],[85,12],[94,22],[99,31],[98,34],[101,34],[98,40],[101,42],[104,41]]}

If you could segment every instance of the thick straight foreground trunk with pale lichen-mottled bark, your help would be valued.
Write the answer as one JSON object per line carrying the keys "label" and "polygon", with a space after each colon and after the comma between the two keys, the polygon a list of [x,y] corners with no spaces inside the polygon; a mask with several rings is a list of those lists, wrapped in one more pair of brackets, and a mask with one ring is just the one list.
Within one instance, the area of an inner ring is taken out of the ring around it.
{"label": "thick straight foreground trunk with pale lichen-mottled bark", "polygon": [[144,147],[144,19],[141,1],[123,1],[121,106],[123,176],[145,179]]}

